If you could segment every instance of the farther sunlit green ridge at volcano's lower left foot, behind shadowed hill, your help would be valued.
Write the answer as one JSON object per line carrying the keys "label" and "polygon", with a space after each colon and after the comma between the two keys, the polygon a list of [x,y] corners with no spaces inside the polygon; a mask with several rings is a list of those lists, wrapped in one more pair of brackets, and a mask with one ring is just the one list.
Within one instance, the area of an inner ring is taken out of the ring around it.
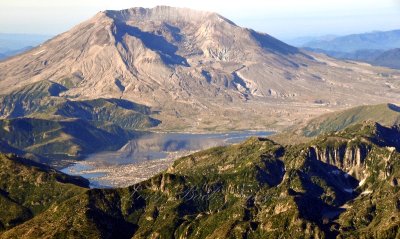
{"label": "farther sunlit green ridge at volcano's lower left foot, behind shadowed hill", "polygon": [[113,123],[125,129],[153,127],[158,120],[149,117],[149,107],[122,99],[72,101],[58,97],[66,87],[51,81],[28,85],[9,95],[0,96],[3,118],[81,119]]}

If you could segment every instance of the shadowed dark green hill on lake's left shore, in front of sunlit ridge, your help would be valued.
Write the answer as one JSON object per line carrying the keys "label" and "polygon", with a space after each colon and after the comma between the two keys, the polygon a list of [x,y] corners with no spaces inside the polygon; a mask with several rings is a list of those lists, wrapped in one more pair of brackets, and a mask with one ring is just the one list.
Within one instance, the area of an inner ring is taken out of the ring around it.
{"label": "shadowed dark green hill on lake's left shore, in front of sunlit ridge", "polygon": [[[61,159],[80,159],[98,149],[117,150],[138,133],[116,125],[94,126],[79,120],[16,118],[0,120],[2,141],[13,149],[39,155],[38,161],[59,166]],[[3,151],[4,152],[4,151]]]}

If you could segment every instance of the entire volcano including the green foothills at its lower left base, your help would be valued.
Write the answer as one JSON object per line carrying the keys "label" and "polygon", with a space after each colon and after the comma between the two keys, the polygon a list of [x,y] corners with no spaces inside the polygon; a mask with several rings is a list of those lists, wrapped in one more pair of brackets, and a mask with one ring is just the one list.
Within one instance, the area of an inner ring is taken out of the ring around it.
{"label": "entire volcano including the green foothills at its lower left base", "polygon": [[400,72],[166,6],[104,11],[0,62],[0,147],[56,167],[138,130],[283,129],[400,101]]}

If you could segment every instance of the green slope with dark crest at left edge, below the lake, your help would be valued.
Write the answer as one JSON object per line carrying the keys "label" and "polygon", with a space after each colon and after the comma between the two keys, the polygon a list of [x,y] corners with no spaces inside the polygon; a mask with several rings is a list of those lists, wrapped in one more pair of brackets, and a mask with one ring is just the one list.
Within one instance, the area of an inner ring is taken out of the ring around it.
{"label": "green slope with dark crest at left edge, below the lake", "polygon": [[0,233],[87,189],[89,182],[0,154]]}

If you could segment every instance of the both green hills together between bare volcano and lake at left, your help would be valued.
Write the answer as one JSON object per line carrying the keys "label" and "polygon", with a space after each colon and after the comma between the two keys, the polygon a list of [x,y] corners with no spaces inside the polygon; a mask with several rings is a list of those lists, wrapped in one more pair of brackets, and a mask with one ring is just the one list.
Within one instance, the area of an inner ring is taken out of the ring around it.
{"label": "both green hills together between bare volcano and lake at left", "polygon": [[67,88],[51,81],[0,96],[0,149],[53,166],[99,149],[116,150],[156,126],[150,108],[121,99],[72,101]]}

